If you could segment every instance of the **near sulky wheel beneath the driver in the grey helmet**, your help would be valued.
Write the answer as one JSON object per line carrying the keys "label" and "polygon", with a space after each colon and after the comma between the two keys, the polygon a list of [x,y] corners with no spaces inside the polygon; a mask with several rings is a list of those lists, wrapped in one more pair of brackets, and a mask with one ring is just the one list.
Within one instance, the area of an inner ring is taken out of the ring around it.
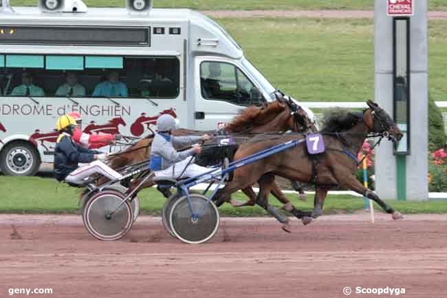
{"label": "near sulky wheel beneath the driver in the grey helmet", "polygon": [[[204,243],[212,238],[219,228],[219,211],[213,202],[207,202],[204,195],[189,195],[194,216],[191,213],[186,196],[173,203],[169,222],[174,235],[188,244]],[[202,210],[203,209],[203,210]]]}

